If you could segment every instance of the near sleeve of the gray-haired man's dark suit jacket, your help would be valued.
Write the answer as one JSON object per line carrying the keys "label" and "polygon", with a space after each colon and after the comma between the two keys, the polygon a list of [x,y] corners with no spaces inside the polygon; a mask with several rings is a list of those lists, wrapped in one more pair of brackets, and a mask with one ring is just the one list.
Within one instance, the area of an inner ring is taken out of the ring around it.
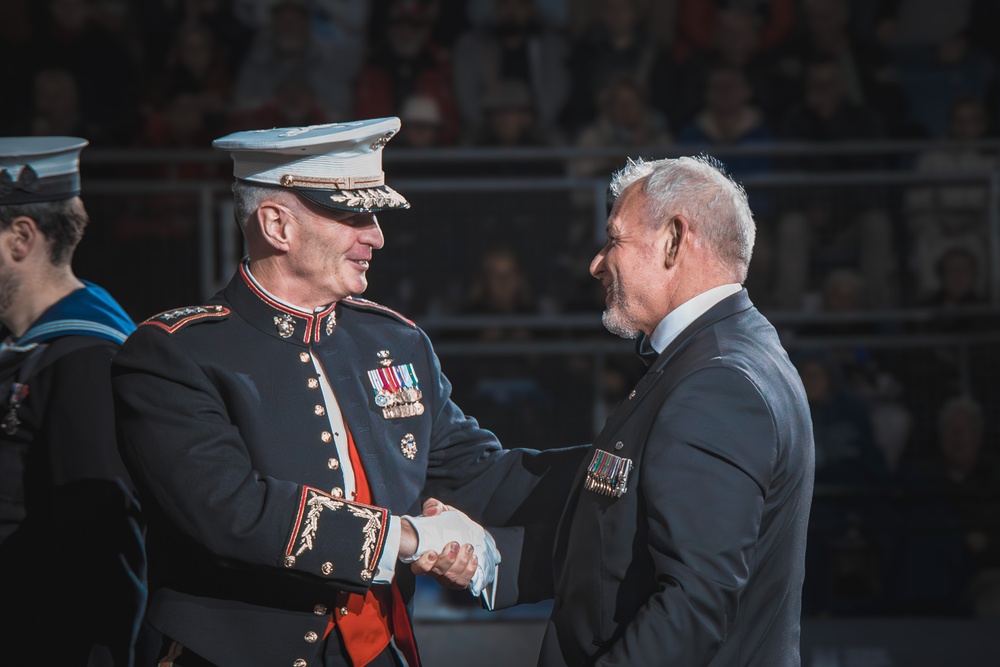
{"label": "near sleeve of the gray-haired man's dark suit jacket", "polygon": [[667,397],[641,460],[657,592],[597,665],[707,665],[726,639],[755,558],[776,457],[766,399],[709,368]]}

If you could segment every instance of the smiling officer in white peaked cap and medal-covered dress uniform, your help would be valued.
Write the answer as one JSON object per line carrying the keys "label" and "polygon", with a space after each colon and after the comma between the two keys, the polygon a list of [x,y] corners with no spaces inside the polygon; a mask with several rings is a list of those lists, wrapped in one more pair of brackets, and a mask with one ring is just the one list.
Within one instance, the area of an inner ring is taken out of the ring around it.
{"label": "smiling officer in white peaked cap and medal-covered dress uniform", "polygon": [[[502,450],[451,401],[427,336],[359,296],[384,241],[375,214],[408,206],[381,164],[399,129],[214,142],[233,157],[248,256],[207,302],[143,322],[113,368],[149,522],[144,665],[416,667],[400,560],[487,605],[533,589],[504,589],[498,565],[531,530],[472,518],[515,521],[522,500],[559,493],[548,461],[579,455]],[[432,498],[464,511],[421,516]]]}

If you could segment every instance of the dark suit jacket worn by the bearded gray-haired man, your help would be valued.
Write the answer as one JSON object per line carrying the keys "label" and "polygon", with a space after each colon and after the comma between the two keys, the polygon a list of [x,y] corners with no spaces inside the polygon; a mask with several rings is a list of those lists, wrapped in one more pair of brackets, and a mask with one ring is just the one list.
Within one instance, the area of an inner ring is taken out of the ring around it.
{"label": "dark suit jacket worn by the bearded gray-haired man", "polygon": [[583,484],[591,455],[578,472],[539,665],[798,665],[812,425],[745,290],[663,351],[593,449],[634,469],[619,498]]}

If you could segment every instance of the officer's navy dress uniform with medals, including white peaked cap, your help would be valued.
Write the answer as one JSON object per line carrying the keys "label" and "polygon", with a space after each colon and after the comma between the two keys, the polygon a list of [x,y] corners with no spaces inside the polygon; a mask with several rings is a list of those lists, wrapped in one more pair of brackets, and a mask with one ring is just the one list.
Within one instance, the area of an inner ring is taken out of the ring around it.
{"label": "officer's navy dress uniform with medals, including white peaked cap", "polygon": [[[373,160],[398,127],[318,130],[334,136],[350,170],[341,186],[381,172]],[[286,164],[296,152],[334,150],[310,143],[310,132],[240,133],[225,147],[259,140],[252,158],[237,156],[237,178],[294,187],[315,167]],[[367,162],[355,164],[352,151]],[[358,207],[349,210],[406,205],[383,183],[308,195]],[[148,625],[221,667],[352,664],[338,633],[360,596],[376,591],[404,607],[412,598],[409,568],[391,586],[379,581],[380,561],[398,549],[386,544],[391,517],[419,514],[435,496],[503,522],[546,471],[459,410],[413,322],[359,298],[303,311],[266,292],[247,262],[207,302],[142,323],[113,375],[123,452],[149,522]],[[345,491],[359,487],[350,479],[364,481],[364,502]],[[396,643],[409,630],[398,611]],[[385,659],[371,664],[398,660]]]}

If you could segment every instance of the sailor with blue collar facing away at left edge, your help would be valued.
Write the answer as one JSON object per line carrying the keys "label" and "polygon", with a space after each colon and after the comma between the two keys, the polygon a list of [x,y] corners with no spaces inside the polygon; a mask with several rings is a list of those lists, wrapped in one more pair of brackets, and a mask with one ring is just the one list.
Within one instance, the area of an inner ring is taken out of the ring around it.
{"label": "sailor with blue collar facing away at left edge", "polygon": [[142,527],[116,445],[110,377],[135,325],[72,268],[88,223],[79,196],[86,145],[0,137],[5,664],[129,665],[145,603]]}

